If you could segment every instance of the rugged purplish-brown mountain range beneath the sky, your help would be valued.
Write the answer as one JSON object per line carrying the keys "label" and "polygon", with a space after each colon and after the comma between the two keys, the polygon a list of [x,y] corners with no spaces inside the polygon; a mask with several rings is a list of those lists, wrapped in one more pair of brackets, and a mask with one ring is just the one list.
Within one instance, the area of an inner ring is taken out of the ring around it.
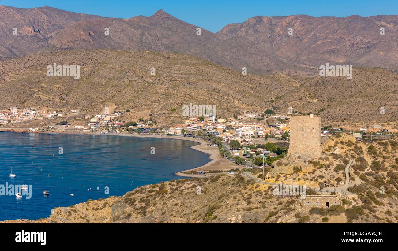
{"label": "rugged purplish-brown mountain range beneath the sky", "polygon": [[[32,52],[101,48],[183,53],[265,75],[276,71],[312,75],[326,63],[398,68],[398,15],[256,16],[228,24],[217,33],[201,28],[200,35],[197,26],[163,10],[149,17],[119,19],[48,6],[0,5],[0,20],[3,60]],[[13,35],[14,28],[18,35]]]}

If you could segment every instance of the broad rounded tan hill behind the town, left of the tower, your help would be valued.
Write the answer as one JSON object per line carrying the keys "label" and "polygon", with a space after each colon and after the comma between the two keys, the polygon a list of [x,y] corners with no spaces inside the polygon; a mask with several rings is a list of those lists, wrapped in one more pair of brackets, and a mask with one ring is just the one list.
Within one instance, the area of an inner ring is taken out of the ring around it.
{"label": "broad rounded tan hill behind the town, left of the tower", "polygon": [[[80,79],[48,77],[48,65],[80,65]],[[151,75],[150,68],[155,75]],[[132,119],[183,120],[183,105],[216,105],[220,117],[261,113],[282,95],[304,97],[277,77],[242,75],[212,62],[167,52],[86,50],[36,54],[0,66],[1,107],[38,106],[100,112],[129,109]],[[260,91],[263,90],[263,91]],[[288,93],[288,94],[287,94]],[[176,111],[172,112],[171,109]]]}

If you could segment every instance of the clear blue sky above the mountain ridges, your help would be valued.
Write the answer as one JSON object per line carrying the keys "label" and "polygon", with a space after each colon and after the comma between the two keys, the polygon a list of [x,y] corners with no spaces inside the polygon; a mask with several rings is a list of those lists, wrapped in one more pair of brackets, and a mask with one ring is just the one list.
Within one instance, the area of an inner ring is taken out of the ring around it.
{"label": "clear blue sky above the mountain ridges", "polygon": [[337,16],[397,15],[397,0],[0,0],[0,4],[19,8],[43,5],[72,12],[104,17],[149,16],[159,9],[187,23],[212,32],[228,23],[242,23],[256,15]]}

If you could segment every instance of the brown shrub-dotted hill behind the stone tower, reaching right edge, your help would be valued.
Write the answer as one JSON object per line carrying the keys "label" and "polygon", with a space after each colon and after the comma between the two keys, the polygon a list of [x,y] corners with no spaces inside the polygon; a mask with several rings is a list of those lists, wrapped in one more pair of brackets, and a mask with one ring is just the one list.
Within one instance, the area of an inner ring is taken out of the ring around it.
{"label": "brown shrub-dotted hill behind the stone tower, reaching right edge", "polygon": [[304,85],[311,101],[294,109],[319,111],[326,121],[398,121],[398,74],[380,68],[354,68],[353,75],[351,80],[312,79]]}

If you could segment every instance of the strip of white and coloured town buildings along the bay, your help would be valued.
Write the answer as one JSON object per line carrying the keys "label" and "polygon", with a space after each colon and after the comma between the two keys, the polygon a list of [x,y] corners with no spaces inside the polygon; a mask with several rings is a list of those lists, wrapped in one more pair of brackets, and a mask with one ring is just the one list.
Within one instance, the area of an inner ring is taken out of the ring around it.
{"label": "strip of white and coloured town buildings along the bay", "polygon": [[[148,118],[139,118],[137,122],[127,122],[123,118],[126,111],[109,112],[105,107],[99,114],[82,114],[76,110],[53,110],[48,108],[18,108],[10,107],[0,110],[0,130],[8,131],[15,125],[23,125],[27,122],[35,126],[22,128],[25,131],[67,131],[67,132],[91,132],[91,133],[134,133],[142,135],[168,135],[183,137],[201,137],[205,135],[220,137],[227,145],[232,141],[238,141],[240,145],[254,145],[264,141],[289,142],[290,118],[292,116],[304,116],[303,114],[278,114],[273,110],[266,110],[263,114],[242,113],[234,114],[232,118],[216,118],[216,116],[204,114],[185,119],[183,124],[171,126],[159,125],[149,114]],[[51,122],[56,120],[57,122]],[[30,125],[30,124],[29,124]],[[16,127],[20,129],[21,127]],[[321,136],[332,136],[336,132],[347,131],[339,124],[324,126],[321,128]],[[396,131],[396,130],[392,130]],[[389,132],[382,125],[369,125],[350,130],[357,140],[373,139],[375,137],[391,138],[396,132]],[[273,156],[271,154],[271,156]]]}

